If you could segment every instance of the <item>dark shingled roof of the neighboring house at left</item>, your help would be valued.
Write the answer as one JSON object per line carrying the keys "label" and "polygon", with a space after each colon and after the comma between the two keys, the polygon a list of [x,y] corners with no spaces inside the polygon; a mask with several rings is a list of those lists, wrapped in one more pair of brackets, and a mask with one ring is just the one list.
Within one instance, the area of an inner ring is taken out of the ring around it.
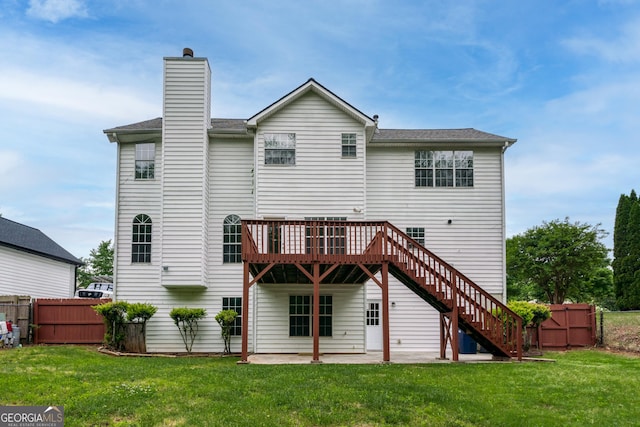
{"label": "dark shingled roof of the neighboring house at left", "polygon": [[83,264],[82,261],[71,255],[37,228],[22,225],[2,217],[0,217],[0,246],[29,252],[68,264]]}

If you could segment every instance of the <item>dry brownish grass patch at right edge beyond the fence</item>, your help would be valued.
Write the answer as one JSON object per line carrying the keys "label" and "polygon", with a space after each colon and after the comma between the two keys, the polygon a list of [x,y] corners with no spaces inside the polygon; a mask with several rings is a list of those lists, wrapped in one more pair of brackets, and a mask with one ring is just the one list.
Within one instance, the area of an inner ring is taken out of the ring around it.
{"label": "dry brownish grass patch at right edge beyond the fence", "polygon": [[604,345],[607,348],[640,352],[640,311],[605,312],[603,326]]}

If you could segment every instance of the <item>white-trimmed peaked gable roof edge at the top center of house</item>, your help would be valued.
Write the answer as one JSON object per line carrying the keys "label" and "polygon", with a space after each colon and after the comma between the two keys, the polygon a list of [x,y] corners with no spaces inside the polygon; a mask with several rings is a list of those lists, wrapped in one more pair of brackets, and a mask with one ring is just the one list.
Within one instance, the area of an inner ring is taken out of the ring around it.
{"label": "white-trimmed peaked gable roof edge at the top center of house", "polygon": [[338,95],[331,92],[326,87],[322,86],[313,78],[310,78],[305,83],[298,86],[297,88],[295,88],[294,90],[292,90],[291,92],[289,92],[288,94],[286,94],[285,96],[283,96],[282,98],[274,102],[273,104],[264,108],[257,114],[254,114],[252,117],[250,117],[247,120],[247,127],[249,128],[257,127],[258,123],[260,123],[262,120],[265,120],[266,118],[272,116],[273,114],[285,108],[287,105],[291,104],[293,101],[297,100],[298,98],[300,98],[301,96],[309,92],[316,93],[317,95],[319,95],[321,98],[323,98],[324,100],[326,100],[327,102],[335,106],[336,108],[342,110],[343,112],[351,116],[353,119],[362,123],[365,127],[368,127],[371,129],[375,127],[376,123],[371,117],[367,116],[362,111],[358,110],[353,105],[349,104],[344,99],[340,98]]}

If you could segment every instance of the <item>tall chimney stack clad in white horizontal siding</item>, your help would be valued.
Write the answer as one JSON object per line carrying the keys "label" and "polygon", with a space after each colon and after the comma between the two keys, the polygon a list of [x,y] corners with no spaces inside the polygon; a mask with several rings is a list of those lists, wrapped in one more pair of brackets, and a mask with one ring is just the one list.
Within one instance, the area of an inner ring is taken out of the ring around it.
{"label": "tall chimney stack clad in white horizontal siding", "polygon": [[163,286],[207,283],[209,81],[206,61],[165,58]]}

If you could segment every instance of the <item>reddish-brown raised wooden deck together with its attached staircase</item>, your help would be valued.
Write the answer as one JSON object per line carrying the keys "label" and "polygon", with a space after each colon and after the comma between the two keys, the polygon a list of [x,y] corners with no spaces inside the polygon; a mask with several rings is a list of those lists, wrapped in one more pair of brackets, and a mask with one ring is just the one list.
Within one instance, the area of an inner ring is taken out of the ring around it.
{"label": "reddish-brown raised wooden deck together with its attached staircase", "polygon": [[[442,358],[450,345],[457,360],[458,329],[496,357],[522,358],[522,319],[389,222],[243,220],[242,260],[243,304],[254,283],[313,283],[314,289],[321,282],[380,283],[375,275],[386,265],[388,274],[440,312]],[[314,342],[314,360],[317,353]]]}

